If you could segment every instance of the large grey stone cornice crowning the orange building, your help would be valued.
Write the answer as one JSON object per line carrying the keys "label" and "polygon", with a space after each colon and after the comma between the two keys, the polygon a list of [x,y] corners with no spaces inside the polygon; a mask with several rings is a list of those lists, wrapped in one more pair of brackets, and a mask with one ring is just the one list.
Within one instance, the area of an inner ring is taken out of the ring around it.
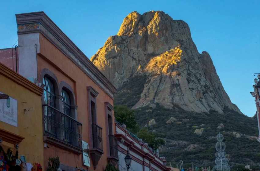
{"label": "large grey stone cornice crowning the orange building", "polygon": [[40,32],[113,98],[117,89],[43,11],[16,14],[16,21],[18,35]]}

